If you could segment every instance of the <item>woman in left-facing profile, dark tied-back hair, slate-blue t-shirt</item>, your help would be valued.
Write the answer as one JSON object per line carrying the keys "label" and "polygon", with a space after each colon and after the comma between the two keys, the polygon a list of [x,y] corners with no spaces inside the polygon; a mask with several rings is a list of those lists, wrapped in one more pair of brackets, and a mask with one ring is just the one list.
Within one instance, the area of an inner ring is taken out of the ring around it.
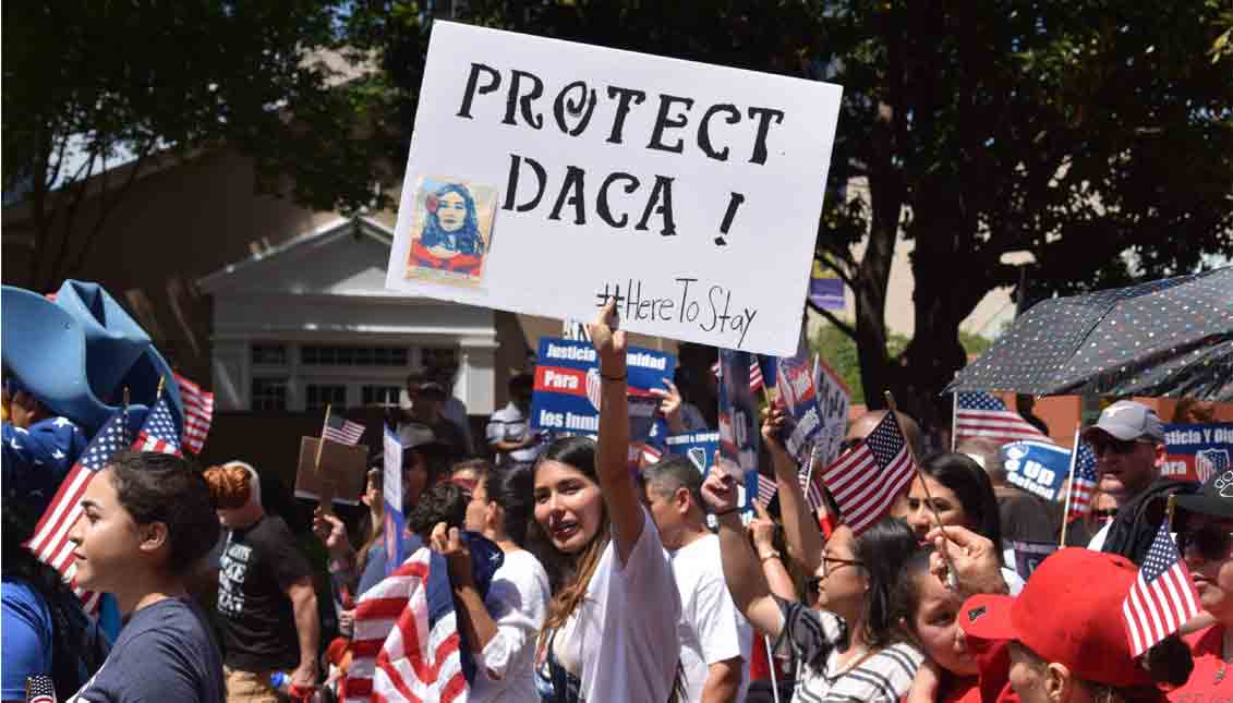
{"label": "woman in left-facing profile, dark tied-back hair, slate-blue t-shirt", "polygon": [[127,451],[96,474],[69,532],[76,583],[116,596],[126,618],[70,702],[223,699],[223,665],[190,572],[218,541],[206,481],[184,459]]}

